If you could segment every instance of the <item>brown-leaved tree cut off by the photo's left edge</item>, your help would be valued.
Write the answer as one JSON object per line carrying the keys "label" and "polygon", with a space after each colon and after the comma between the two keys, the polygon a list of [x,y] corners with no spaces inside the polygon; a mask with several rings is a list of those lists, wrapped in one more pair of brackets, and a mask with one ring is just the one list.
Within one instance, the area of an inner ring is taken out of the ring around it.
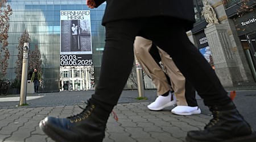
{"label": "brown-leaved tree cut off by the photo's left edge", "polygon": [[8,31],[10,28],[9,16],[13,14],[13,10],[10,5],[7,5],[7,0],[0,0],[0,77],[3,78],[6,75],[8,67],[8,59],[10,52],[8,46]]}

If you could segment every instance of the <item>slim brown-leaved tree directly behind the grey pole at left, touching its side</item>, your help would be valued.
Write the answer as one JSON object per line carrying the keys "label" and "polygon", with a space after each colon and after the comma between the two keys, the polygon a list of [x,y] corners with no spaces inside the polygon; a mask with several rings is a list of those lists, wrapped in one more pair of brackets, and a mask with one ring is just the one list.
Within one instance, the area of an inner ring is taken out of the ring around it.
{"label": "slim brown-leaved tree directly behind the grey pole at left, touching its side", "polygon": [[20,81],[22,76],[22,60],[23,60],[23,44],[30,42],[30,35],[27,30],[25,30],[22,35],[19,37],[19,44],[17,46],[18,49],[18,60],[16,60],[15,73],[16,80]]}

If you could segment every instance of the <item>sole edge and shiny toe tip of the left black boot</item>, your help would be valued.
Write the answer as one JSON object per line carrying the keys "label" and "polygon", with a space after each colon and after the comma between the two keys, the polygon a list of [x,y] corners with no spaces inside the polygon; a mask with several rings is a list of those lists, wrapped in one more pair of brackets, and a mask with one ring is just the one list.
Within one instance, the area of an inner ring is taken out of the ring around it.
{"label": "sole edge and shiny toe tip of the left black boot", "polygon": [[44,133],[46,133],[47,136],[51,137],[52,140],[57,142],[68,142],[63,137],[57,135],[56,132],[52,131],[51,128],[47,127],[46,122],[44,120],[40,121],[39,127]]}

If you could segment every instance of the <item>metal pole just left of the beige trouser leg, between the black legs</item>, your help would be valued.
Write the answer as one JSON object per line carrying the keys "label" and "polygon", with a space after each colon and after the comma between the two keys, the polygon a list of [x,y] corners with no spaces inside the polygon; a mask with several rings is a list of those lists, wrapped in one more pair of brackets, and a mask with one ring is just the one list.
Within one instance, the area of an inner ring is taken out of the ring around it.
{"label": "metal pole just left of the beige trouser leg, between the black legs", "polygon": [[139,97],[144,97],[142,67],[141,67],[141,64],[139,64],[136,56],[135,56],[135,63],[136,63],[136,77],[137,77],[138,94],[139,94]]}

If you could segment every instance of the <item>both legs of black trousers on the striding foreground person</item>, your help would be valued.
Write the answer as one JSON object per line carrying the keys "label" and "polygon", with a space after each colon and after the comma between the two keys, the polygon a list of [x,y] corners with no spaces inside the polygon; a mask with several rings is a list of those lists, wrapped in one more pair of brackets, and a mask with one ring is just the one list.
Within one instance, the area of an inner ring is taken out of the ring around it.
{"label": "both legs of black trousers on the striding foreground person", "polygon": [[214,70],[189,41],[183,22],[175,18],[154,17],[106,23],[100,80],[92,100],[104,106],[117,105],[133,66],[135,36],[146,35],[172,57],[177,68],[204,99],[205,105],[229,103],[231,100]]}

